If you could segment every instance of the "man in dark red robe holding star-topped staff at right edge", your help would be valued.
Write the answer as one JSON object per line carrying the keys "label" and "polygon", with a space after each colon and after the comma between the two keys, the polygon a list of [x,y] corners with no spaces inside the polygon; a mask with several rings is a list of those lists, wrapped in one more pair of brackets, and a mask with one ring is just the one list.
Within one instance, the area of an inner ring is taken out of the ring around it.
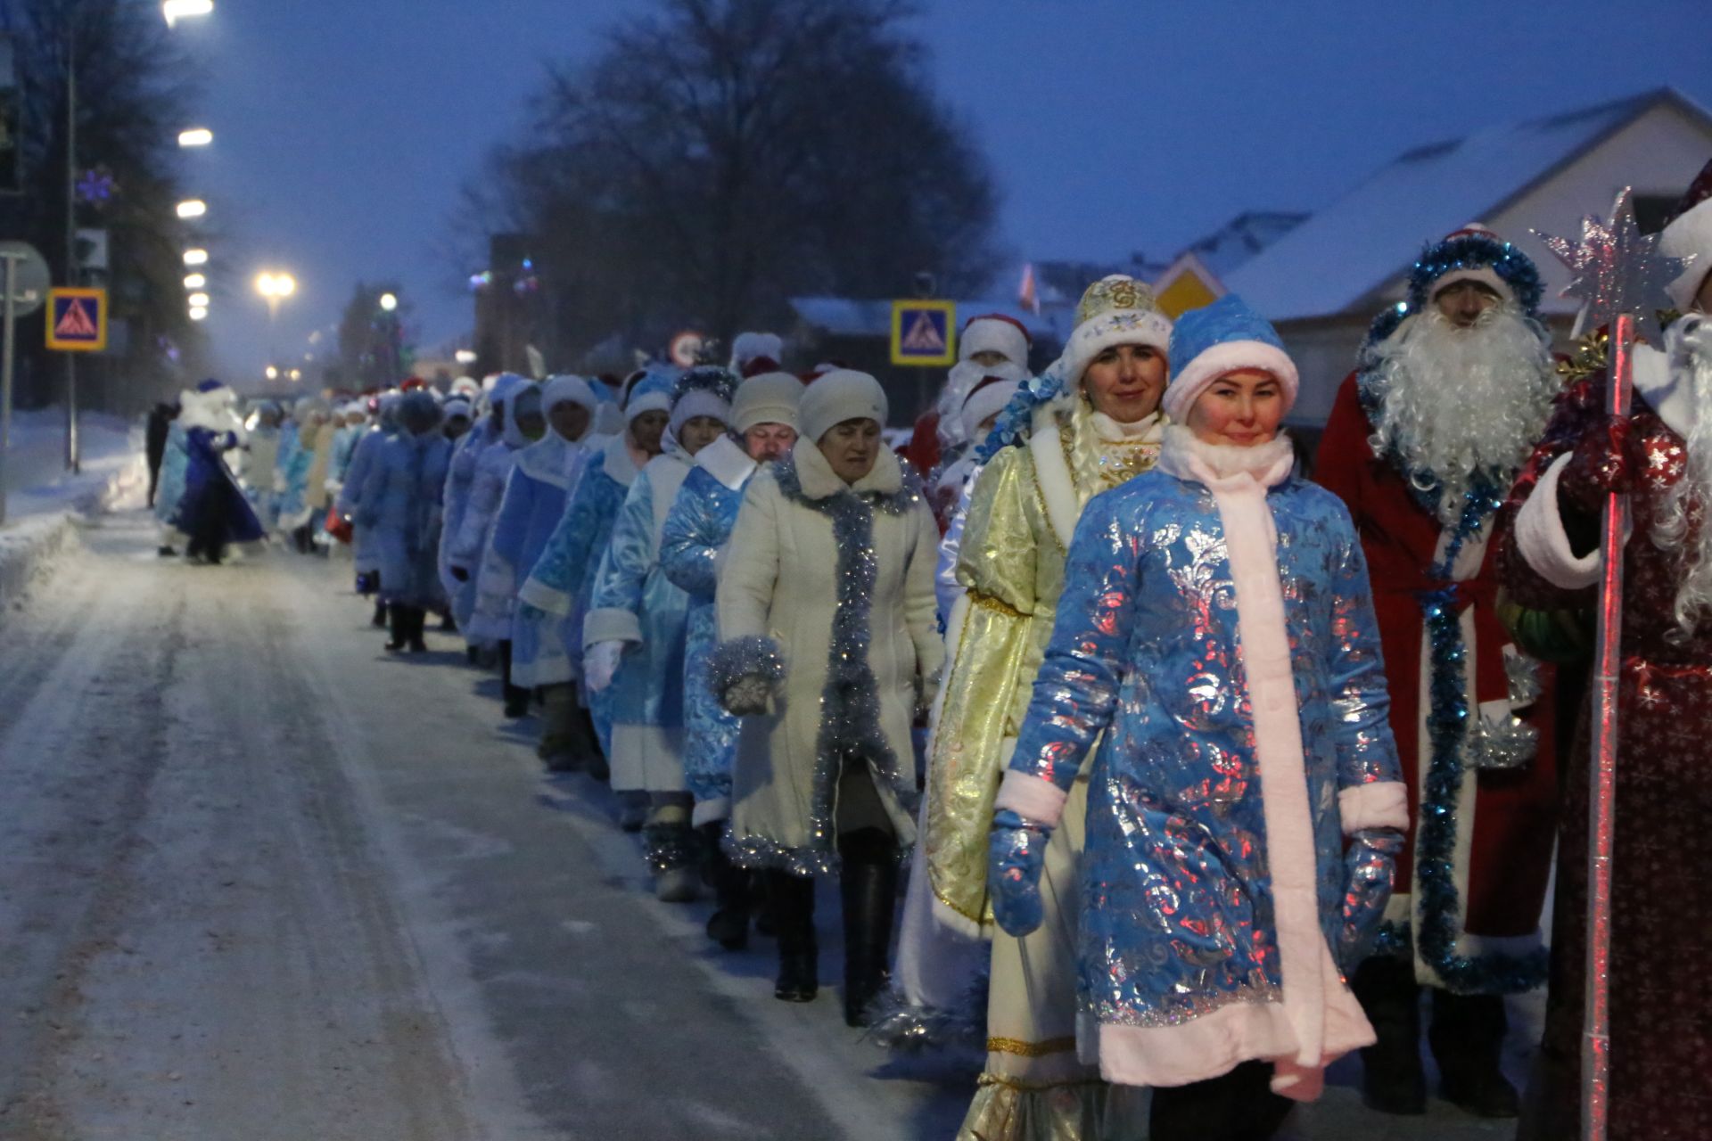
{"label": "man in dark red robe holding star-topped staff at right edge", "polygon": [[[1626,192],[1548,239],[1592,325],[1505,508],[1522,606],[1599,616],[1568,756],[1551,997],[1524,1141],[1712,1138],[1712,163],[1662,234]],[[1664,320],[1659,322],[1659,311]],[[1632,330],[1662,325],[1662,347]],[[1626,380],[1633,381],[1633,405]]]}

